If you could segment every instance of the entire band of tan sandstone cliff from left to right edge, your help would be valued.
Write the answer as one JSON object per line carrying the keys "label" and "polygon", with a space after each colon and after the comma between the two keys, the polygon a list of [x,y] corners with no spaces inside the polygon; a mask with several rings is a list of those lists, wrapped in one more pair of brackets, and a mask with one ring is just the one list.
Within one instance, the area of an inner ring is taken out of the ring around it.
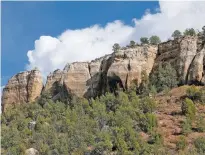
{"label": "entire band of tan sandstone cliff from left to right edge", "polygon": [[[141,82],[141,73],[149,75],[159,64],[169,62],[181,84],[205,84],[205,45],[200,36],[185,36],[156,45],[121,48],[91,62],[67,64],[47,77],[43,92],[58,97],[62,91],[79,97],[96,97],[117,87],[129,89]],[[13,76],[3,90],[2,103],[32,102],[43,88],[37,70]],[[62,90],[63,89],[63,90]]]}

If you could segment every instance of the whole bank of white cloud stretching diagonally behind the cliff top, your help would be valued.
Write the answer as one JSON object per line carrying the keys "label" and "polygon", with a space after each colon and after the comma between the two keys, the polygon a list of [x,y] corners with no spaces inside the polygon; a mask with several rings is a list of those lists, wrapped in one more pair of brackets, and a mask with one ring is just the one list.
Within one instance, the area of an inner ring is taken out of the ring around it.
{"label": "whole bank of white cloud stretching diagonally behind the cliff top", "polygon": [[[134,26],[116,20],[102,27],[66,30],[58,37],[41,36],[35,41],[35,49],[27,53],[27,69],[38,67],[44,75],[62,69],[66,63],[89,61],[112,52],[114,43],[126,45],[141,36],[158,35],[166,40],[178,29],[201,29],[205,25],[204,2],[160,1],[159,8],[151,14],[149,8],[141,19],[133,19]],[[151,8],[150,8],[151,9]]]}

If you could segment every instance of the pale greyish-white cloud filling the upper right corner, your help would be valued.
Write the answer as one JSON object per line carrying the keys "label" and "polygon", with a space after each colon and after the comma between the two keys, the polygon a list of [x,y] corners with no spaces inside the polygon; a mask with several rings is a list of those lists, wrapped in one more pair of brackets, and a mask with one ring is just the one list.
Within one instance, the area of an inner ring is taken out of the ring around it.
{"label": "pale greyish-white cloud filling the upper right corner", "polygon": [[168,39],[176,29],[186,28],[201,30],[205,25],[205,2],[195,1],[160,1],[160,12],[147,14],[135,19],[134,36],[159,35],[162,40]]}

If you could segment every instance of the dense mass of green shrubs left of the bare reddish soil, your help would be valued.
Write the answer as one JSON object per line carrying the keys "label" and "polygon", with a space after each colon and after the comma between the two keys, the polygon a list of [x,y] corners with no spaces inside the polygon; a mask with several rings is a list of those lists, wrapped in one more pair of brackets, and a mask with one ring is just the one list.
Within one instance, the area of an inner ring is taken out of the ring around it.
{"label": "dense mass of green shrubs left of the bare reddish soil", "polygon": [[[159,146],[156,132],[156,107],[150,98],[140,99],[135,92],[107,93],[95,100],[75,99],[72,107],[53,102],[43,95],[37,103],[22,104],[2,115],[2,151],[22,154],[33,147],[41,155],[109,153],[150,154]],[[29,129],[28,124],[36,125]],[[145,142],[140,131],[153,137]]]}

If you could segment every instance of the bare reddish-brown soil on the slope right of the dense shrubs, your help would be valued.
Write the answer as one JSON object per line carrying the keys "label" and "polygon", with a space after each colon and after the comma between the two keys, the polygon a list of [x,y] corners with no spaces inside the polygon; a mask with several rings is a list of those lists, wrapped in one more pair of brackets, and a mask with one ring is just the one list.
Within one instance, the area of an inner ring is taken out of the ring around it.
{"label": "bare reddish-brown soil on the slope right of the dense shrubs", "polygon": [[[170,149],[176,149],[177,141],[183,135],[183,122],[186,116],[182,114],[181,105],[184,98],[187,96],[187,89],[190,86],[181,86],[172,89],[166,95],[158,94],[156,99],[159,103],[157,108],[158,128],[164,137],[164,144]],[[202,88],[202,87],[197,87]],[[205,103],[195,103],[196,115],[205,119]],[[205,125],[205,124],[203,124]],[[185,135],[188,147],[193,147],[193,142],[198,137],[205,137],[205,132],[198,132],[195,130],[196,122],[192,123],[192,131]]]}

